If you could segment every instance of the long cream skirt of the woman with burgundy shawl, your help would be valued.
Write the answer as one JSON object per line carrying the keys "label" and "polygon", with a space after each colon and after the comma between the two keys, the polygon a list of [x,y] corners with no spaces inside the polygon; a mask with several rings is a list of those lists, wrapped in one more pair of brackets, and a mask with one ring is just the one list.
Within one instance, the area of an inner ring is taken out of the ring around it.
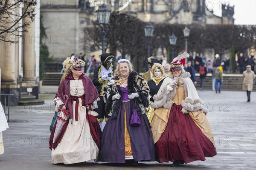
{"label": "long cream skirt of the woman with burgundy shawl", "polygon": [[[73,102],[75,111],[76,101]],[[75,112],[73,112],[75,118]],[[98,159],[99,148],[94,142],[89,122],[86,119],[86,108],[82,106],[79,98],[78,121],[73,119],[69,122],[61,142],[55,149],[52,149],[52,163],[74,164]]]}

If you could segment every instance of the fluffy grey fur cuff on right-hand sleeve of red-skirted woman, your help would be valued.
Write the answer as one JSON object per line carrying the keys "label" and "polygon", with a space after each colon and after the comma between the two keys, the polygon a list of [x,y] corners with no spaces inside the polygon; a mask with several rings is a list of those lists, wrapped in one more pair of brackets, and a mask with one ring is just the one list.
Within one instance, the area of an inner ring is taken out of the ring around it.
{"label": "fluffy grey fur cuff on right-hand sleeve of red-skirted woman", "polygon": [[188,111],[199,111],[202,110],[204,114],[208,113],[207,108],[204,107],[204,102],[201,99],[192,99],[186,97],[185,100],[181,102],[182,108]]}

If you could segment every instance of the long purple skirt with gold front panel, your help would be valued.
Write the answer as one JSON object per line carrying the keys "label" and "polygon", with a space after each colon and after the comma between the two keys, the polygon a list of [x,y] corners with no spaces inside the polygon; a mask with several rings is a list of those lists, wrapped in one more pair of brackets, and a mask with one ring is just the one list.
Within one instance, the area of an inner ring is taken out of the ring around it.
{"label": "long purple skirt with gold front panel", "polygon": [[99,161],[125,163],[134,161],[155,161],[154,142],[146,114],[140,115],[141,125],[130,125],[130,101],[122,102],[116,119],[110,117],[101,136]]}

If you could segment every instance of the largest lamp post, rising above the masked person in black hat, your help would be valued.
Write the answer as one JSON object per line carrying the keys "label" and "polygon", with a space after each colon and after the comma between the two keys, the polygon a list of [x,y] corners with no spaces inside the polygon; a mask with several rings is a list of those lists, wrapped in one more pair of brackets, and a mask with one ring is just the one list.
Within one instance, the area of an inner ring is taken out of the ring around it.
{"label": "largest lamp post, rising above the masked person in black hat", "polygon": [[105,3],[103,3],[102,6],[97,10],[99,25],[102,25],[102,53],[105,53],[105,39],[108,31],[108,20],[110,14],[111,9],[108,9]]}

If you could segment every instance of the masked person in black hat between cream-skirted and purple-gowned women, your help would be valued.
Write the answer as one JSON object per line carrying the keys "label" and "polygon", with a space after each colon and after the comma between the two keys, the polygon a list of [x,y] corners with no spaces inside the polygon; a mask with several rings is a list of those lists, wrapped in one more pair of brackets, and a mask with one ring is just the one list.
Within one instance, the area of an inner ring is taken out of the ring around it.
{"label": "masked person in black hat between cream-skirted and purple-gowned women", "polygon": [[94,74],[93,74],[93,84],[96,86],[97,91],[99,93],[99,101],[98,101],[98,108],[96,108],[94,111],[96,111],[99,116],[97,116],[97,120],[99,122],[99,125],[101,129],[102,122],[105,117],[105,121],[108,121],[108,114],[105,112],[105,103],[103,100],[103,90],[105,85],[108,84],[109,79],[113,77],[113,71],[115,70],[115,66],[112,65],[112,60],[114,55],[111,53],[103,53],[99,56],[102,62],[102,65],[99,65],[95,68]]}

